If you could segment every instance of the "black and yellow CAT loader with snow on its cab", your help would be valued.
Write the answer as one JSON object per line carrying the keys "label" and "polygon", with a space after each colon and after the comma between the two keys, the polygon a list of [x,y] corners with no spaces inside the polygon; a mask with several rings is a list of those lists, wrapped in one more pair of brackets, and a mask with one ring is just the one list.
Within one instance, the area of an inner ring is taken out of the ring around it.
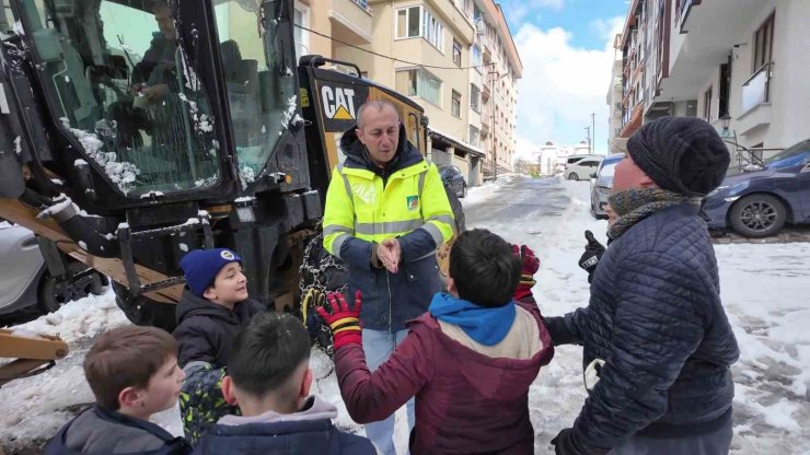
{"label": "black and yellow CAT loader with snow on its cab", "polygon": [[171,330],[180,259],[213,246],[293,311],[359,106],[394,102],[426,150],[416,103],[333,63],[298,65],[292,0],[0,0],[0,218],[109,277],[135,324]]}

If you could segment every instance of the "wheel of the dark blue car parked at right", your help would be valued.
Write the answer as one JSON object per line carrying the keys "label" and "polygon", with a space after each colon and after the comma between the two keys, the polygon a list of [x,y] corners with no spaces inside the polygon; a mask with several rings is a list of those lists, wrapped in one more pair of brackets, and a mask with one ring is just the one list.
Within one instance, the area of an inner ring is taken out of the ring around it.
{"label": "wheel of the dark blue car parked at right", "polygon": [[785,205],[773,196],[751,195],[740,199],[729,213],[731,228],[745,237],[767,237],[782,230],[787,220]]}

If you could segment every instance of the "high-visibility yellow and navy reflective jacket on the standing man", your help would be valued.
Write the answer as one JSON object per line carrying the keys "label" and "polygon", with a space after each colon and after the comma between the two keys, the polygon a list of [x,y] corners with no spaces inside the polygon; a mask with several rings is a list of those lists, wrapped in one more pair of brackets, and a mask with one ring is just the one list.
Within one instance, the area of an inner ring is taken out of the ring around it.
{"label": "high-visibility yellow and navy reflective jacket on the standing man", "polygon": [[[333,171],[326,194],[324,247],[349,266],[349,292],[362,291],[363,326],[398,331],[426,312],[441,289],[436,248],[453,235],[453,212],[433,164],[407,142],[385,168],[371,163],[350,129],[340,148],[346,160]],[[374,244],[396,237],[402,246],[397,273],[371,266]]]}

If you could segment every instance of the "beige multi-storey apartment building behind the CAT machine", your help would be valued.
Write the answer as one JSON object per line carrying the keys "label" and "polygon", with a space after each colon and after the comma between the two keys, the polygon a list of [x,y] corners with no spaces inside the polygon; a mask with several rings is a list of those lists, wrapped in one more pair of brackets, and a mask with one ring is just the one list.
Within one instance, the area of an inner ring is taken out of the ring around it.
{"label": "beige multi-storey apartment building behind the CAT machine", "polygon": [[433,162],[471,186],[495,163],[511,171],[522,65],[493,0],[297,0],[294,13],[300,55],[354,62],[425,108]]}

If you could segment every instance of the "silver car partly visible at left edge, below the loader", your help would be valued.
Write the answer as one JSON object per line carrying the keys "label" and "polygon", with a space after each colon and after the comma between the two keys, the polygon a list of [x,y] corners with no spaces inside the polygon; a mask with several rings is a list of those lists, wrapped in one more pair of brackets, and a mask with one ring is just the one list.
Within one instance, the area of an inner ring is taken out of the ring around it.
{"label": "silver car partly visible at left edge, below the loader", "polygon": [[[60,254],[61,255],[61,254]],[[0,221],[0,315],[38,306],[50,313],[71,300],[100,294],[108,281],[61,255],[66,273],[51,276],[33,232]]]}

